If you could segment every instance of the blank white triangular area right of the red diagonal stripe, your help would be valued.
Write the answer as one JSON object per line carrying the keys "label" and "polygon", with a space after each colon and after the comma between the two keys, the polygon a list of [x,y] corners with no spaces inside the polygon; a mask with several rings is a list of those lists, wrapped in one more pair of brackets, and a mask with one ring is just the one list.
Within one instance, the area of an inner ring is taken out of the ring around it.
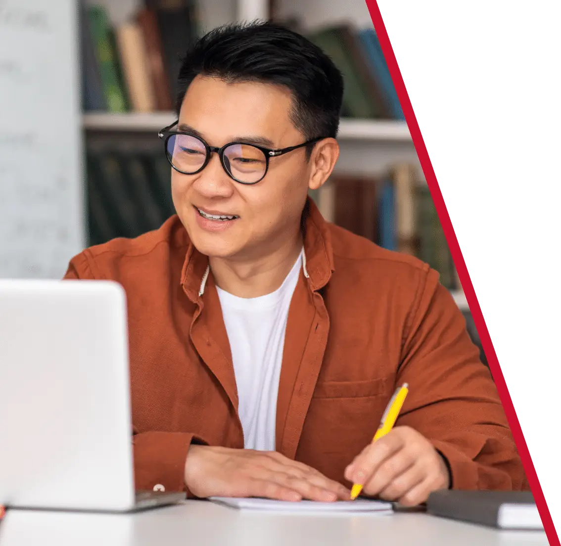
{"label": "blank white triangular area right of the red diagonal stripe", "polygon": [[379,6],[559,532],[561,2]]}

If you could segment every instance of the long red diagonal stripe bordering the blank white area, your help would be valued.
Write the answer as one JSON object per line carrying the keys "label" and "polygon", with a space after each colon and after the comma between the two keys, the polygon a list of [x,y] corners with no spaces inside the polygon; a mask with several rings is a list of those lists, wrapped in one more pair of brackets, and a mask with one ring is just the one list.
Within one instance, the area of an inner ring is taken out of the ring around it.
{"label": "long red diagonal stripe bordering the blank white area", "polygon": [[454,260],[454,265],[458,270],[458,276],[462,282],[463,290],[466,294],[467,303],[470,306],[470,311],[473,316],[473,322],[477,327],[477,332],[481,338],[481,344],[485,351],[485,356],[489,362],[489,368],[493,374],[493,378],[496,384],[497,391],[499,393],[500,400],[503,404],[504,412],[507,416],[508,423],[512,430],[512,436],[516,446],[518,448],[518,453],[522,460],[522,465],[526,471],[526,476],[528,478],[528,483],[532,489],[532,494],[534,495],[537,509],[540,512],[541,520],[544,524],[545,532],[548,536],[550,544],[560,544],[559,536],[557,535],[557,530],[555,529],[555,524],[553,522],[553,517],[551,517],[551,512],[549,510],[548,502],[546,501],[544,491],[541,488],[540,479],[537,476],[536,468],[534,466],[534,461],[532,461],[532,456],[530,450],[528,449],[528,444],[524,433],[522,432],[522,427],[518,420],[518,415],[516,414],[516,409],[512,402],[511,393],[508,390],[507,381],[504,378],[503,371],[500,367],[499,359],[496,355],[495,348],[493,346],[493,340],[491,340],[491,335],[489,334],[489,328],[485,322],[485,317],[481,311],[479,301],[477,300],[477,295],[475,293],[475,288],[473,288],[473,283],[471,281],[470,273],[467,269],[466,261],[464,260],[462,249],[459,246],[458,238],[454,232],[454,226],[452,220],[450,219],[450,214],[448,212],[446,203],[444,201],[444,196],[442,195],[442,190],[440,189],[438,179],[436,179],[436,173],[434,172],[433,163],[430,160],[429,151],[427,150],[425,139],[422,136],[421,128],[417,117],[415,115],[415,110],[413,110],[413,105],[403,80],[403,75],[401,73],[401,68],[397,62],[396,54],[394,53],[392,42],[390,41],[388,30],[385,26],[384,18],[380,11],[377,0],[366,0],[366,5],[370,11],[370,16],[374,23],[374,28],[376,29],[376,34],[380,41],[380,47],[384,53],[386,62],[388,63],[388,68],[390,75],[392,76],[393,83],[396,87],[397,95],[399,98],[399,103],[403,109],[403,114],[407,121],[407,126],[411,132],[411,137],[413,139],[413,144],[415,145],[415,150],[419,156],[419,161],[421,163],[421,168],[425,174],[427,186],[430,189],[430,193],[433,196],[434,205],[440,222],[442,223],[442,228],[450,247],[450,253],[452,253],[452,258]]}

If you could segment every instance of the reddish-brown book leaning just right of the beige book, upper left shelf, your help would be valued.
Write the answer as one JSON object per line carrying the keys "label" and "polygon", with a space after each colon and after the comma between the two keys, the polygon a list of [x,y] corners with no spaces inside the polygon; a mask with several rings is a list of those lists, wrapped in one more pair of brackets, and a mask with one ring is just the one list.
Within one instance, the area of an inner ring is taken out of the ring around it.
{"label": "reddish-brown book leaning just right of the beige book, upper left shelf", "polygon": [[158,18],[154,10],[144,8],[137,13],[136,20],[142,29],[146,46],[146,58],[150,81],[154,90],[155,107],[167,112],[173,109],[171,89],[167,69],[164,65],[162,37],[158,27]]}

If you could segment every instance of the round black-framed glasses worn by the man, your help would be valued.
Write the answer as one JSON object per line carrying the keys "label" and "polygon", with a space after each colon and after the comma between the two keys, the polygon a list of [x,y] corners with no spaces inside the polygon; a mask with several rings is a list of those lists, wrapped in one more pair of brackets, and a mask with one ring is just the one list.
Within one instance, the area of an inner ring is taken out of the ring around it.
{"label": "round black-framed glasses worn by the man", "polygon": [[240,184],[261,182],[269,170],[270,158],[276,158],[292,150],[315,144],[324,138],[314,138],[296,146],[277,150],[247,144],[247,142],[228,142],[218,148],[209,146],[202,138],[188,132],[170,131],[178,123],[179,120],[164,127],[158,133],[158,137],[164,139],[165,156],[177,172],[182,174],[200,173],[208,165],[211,155],[215,152],[228,176]]}

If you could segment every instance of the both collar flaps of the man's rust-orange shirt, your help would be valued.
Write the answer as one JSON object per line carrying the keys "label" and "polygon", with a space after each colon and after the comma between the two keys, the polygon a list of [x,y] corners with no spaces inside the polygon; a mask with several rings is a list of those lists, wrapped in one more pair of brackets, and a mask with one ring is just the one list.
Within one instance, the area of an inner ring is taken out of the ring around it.
{"label": "both collar flaps of the man's rust-orange shirt", "polygon": [[[302,269],[310,288],[320,290],[329,282],[334,271],[333,248],[328,224],[310,197],[307,198],[302,214],[302,232]],[[181,285],[193,303],[197,303],[203,296],[209,272],[208,256],[201,254],[194,244],[189,243],[181,271]]]}

